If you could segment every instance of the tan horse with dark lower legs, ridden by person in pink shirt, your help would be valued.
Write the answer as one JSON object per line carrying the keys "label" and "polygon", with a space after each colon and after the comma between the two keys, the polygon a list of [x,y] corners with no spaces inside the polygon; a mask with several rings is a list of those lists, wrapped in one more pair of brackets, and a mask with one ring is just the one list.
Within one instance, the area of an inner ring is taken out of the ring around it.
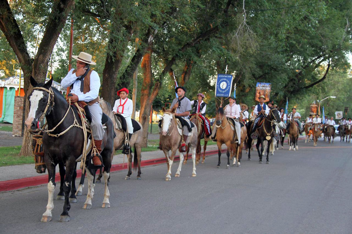
{"label": "tan horse with dark lower legs, ridden by person in pink shirt", "polygon": [[[237,159],[238,166],[240,165],[239,154],[237,154],[237,146],[238,144],[234,142],[233,136],[235,134],[235,130],[232,130],[231,125],[229,124],[228,118],[225,116],[224,108],[219,107],[216,110],[215,116],[215,124],[216,124],[216,144],[218,145],[218,165],[216,167],[220,168],[220,157],[221,157],[221,146],[225,144],[227,146],[227,167],[230,167],[230,156],[234,157],[234,160]],[[235,161],[234,161],[235,163]]]}

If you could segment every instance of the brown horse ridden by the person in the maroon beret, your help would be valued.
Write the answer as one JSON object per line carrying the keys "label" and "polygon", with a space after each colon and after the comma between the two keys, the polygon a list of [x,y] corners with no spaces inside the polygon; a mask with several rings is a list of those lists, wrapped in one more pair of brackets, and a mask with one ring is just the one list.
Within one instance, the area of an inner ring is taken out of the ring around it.
{"label": "brown horse ridden by the person in the maroon beret", "polygon": [[[203,160],[202,163],[205,162],[205,151],[207,149],[207,144],[208,144],[208,138],[205,136],[205,129],[204,129],[204,122],[203,120],[199,117],[199,113],[196,113],[192,115],[192,117],[189,119],[189,121],[193,122],[195,126],[197,126],[198,130],[198,139],[197,139],[197,148],[196,148],[196,165],[198,165],[200,161],[200,156],[201,156],[201,151],[202,151],[202,146],[200,144],[200,140],[204,139],[204,146],[203,146]],[[187,149],[186,156],[184,157],[183,164],[186,165],[187,160],[188,160],[188,152],[189,148]]]}

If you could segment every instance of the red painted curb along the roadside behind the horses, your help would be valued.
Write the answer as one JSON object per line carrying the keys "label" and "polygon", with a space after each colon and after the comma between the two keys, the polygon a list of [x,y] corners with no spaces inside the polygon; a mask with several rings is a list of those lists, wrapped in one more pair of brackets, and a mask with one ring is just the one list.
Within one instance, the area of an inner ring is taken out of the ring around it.
{"label": "red painted curb along the roadside behind the horses", "polygon": [[[226,152],[226,149],[223,149],[221,152],[222,153]],[[209,156],[216,153],[218,153],[218,150],[212,150],[212,151],[207,151],[205,155]],[[178,161],[178,160],[180,160],[180,155],[176,155],[174,158],[174,161]],[[144,160],[140,162],[140,166],[146,167],[146,166],[157,165],[161,163],[166,163],[166,158]],[[111,169],[110,169],[111,172],[122,171],[122,170],[127,170],[127,163],[114,164],[111,166]],[[77,170],[77,178],[80,178],[81,175],[82,175],[82,170],[81,169]],[[56,173],[55,181],[60,181],[59,173]],[[26,178],[15,179],[15,180],[5,180],[5,181],[0,181],[0,192],[20,189],[20,188],[25,188],[30,186],[38,186],[38,185],[43,185],[45,183],[48,183],[48,174],[26,177]]]}

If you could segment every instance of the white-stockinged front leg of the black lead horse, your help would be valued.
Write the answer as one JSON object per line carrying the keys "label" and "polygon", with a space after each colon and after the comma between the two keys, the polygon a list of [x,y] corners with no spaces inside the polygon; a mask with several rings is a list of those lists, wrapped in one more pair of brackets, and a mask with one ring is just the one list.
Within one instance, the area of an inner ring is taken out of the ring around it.
{"label": "white-stockinged front leg of the black lead horse", "polygon": [[55,190],[55,166],[54,165],[48,165],[46,164],[46,167],[48,168],[48,176],[49,176],[49,182],[48,182],[48,205],[46,205],[46,210],[42,215],[42,219],[40,220],[41,222],[49,222],[51,221],[51,210],[54,209],[54,190]]}

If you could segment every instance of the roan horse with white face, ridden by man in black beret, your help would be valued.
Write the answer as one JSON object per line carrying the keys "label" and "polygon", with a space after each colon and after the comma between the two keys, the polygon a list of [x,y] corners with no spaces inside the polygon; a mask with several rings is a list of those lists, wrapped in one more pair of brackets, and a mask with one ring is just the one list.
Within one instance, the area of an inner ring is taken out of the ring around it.
{"label": "roan horse with white face, ridden by man in black beret", "polygon": [[[174,163],[174,158],[177,149],[181,146],[182,143],[182,132],[178,131],[177,128],[177,120],[174,115],[175,108],[165,109],[163,107],[163,118],[161,121],[161,133],[160,133],[160,146],[162,151],[165,154],[166,163],[168,165],[168,172],[166,173],[165,180],[171,180],[171,167]],[[192,161],[193,161],[193,169],[192,169],[192,176],[197,176],[196,174],[196,147],[197,147],[197,127],[192,127],[192,131],[190,136],[188,136],[189,143],[188,147],[192,148]],[[187,140],[188,140],[187,139]],[[187,143],[187,142],[186,142]],[[171,156],[169,151],[171,151]],[[180,163],[178,164],[178,169],[175,174],[175,177],[180,176],[181,168],[183,162],[183,153],[180,152]]]}

